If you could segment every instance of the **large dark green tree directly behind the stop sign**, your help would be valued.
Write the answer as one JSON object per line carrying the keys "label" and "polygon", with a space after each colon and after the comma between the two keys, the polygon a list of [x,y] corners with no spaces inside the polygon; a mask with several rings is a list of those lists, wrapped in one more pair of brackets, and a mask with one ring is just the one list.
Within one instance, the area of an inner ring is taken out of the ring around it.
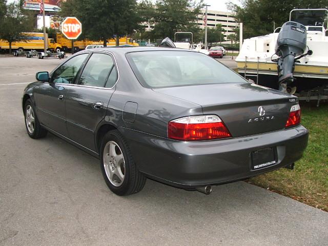
{"label": "large dark green tree directly behind the stop sign", "polygon": [[120,36],[140,29],[140,12],[146,4],[142,1],[138,5],[136,0],[67,0],[61,4],[61,16],[74,15],[80,20],[84,31],[80,38],[104,40],[107,46],[107,39],[116,37],[118,46]]}

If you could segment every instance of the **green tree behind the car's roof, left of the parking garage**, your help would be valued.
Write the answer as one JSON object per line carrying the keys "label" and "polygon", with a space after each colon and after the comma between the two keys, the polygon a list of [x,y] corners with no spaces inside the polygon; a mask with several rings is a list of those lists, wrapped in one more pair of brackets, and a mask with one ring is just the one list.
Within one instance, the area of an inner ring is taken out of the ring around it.
{"label": "green tree behind the car's roof, left of the parking garage", "polygon": [[192,0],[157,0],[151,22],[154,38],[174,38],[175,32],[190,32],[195,29],[196,18],[203,6],[202,1]]}

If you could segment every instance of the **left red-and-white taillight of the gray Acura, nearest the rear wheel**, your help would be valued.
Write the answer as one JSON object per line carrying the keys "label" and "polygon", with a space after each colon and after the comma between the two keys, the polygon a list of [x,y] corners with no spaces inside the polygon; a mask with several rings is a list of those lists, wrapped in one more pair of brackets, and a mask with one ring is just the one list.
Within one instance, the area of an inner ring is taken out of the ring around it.
{"label": "left red-and-white taillight of the gray Acura, nearest the rear wheel", "polygon": [[195,141],[231,137],[231,134],[219,116],[197,115],[170,121],[168,137],[175,140]]}

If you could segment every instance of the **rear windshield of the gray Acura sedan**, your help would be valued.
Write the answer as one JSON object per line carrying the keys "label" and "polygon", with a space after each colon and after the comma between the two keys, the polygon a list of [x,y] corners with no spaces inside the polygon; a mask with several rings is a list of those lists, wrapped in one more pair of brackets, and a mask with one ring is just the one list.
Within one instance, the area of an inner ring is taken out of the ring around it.
{"label": "rear windshield of the gray Acura sedan", "polygon": [[141,51],[127,54],[141,85],[148,88],[245,83],[215,59],[190,51]]}

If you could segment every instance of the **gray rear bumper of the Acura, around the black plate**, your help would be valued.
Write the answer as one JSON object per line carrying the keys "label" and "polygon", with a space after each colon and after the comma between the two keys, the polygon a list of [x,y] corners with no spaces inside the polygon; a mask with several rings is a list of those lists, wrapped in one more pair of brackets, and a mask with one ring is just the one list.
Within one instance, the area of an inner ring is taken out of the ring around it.
{"label": "gray rear bumper of the Acura, around the black plate", "polygon": [[[120,131],[127,138],[141,172],[179,188],[218,185],[289,166],[302,157],[309,136],[303,126],[253,136],[190,142],[127,128]],[[276,164],[252,171],[251,153],[265,148],[276,148]]]}

